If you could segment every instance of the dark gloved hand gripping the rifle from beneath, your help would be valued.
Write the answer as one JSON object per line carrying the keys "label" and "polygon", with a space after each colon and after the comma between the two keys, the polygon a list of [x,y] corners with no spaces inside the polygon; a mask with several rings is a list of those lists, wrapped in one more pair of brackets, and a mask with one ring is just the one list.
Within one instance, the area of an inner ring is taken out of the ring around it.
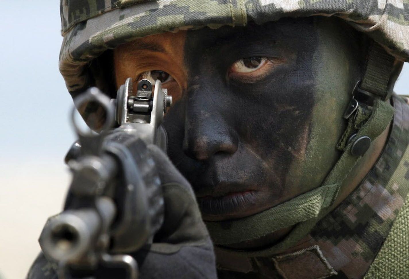
{"label": "dark gloved hand gripping the rifle from beneath", "polygon": [[[162,181],[164,223],[153,244],[131,254],[138,262],[139,278],[217,278],[213,245],[189,182],[158,147],[148,149]],[[40,253],[27,279],[56,279],[55,269]],[[92,276],[119,279],[126,273],[101,266]]]}

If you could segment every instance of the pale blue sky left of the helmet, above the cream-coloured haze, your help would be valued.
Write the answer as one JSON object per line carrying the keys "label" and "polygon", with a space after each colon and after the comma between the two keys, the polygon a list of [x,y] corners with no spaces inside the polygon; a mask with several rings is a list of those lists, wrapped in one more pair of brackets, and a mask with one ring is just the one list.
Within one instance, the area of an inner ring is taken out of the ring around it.
{"label": "pale blue sky left of the helmet, above the cream-coloured haze", "polygon": [[9,1],[0,14],[0,161],[61,163],[74,136],[72,100],[58,71],[59,1]]}

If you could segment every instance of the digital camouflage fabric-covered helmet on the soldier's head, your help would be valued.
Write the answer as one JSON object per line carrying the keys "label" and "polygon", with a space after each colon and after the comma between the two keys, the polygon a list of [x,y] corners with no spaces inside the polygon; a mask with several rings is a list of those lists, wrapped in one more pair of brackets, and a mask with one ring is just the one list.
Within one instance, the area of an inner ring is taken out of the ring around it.
{"label": "digital camouflage fabric-covered helmet on the soldier's head", "polygon": [[98,84],[90,61],[135,38],[312,15],[343,18],[409,61],[408,0],[62,0],[59,67],[68,90],[79,92]]}

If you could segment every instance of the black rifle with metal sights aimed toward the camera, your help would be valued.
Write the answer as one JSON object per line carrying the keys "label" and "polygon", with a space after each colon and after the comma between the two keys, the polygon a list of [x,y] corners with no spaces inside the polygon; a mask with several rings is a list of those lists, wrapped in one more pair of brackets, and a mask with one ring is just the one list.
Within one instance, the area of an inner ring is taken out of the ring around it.
{"label": "black rifle with metal sights aimed toward the camera", "polygon": [[[65,158],[72,182],[63,212],[47,220],[39,238],[45,257],[58,265],[58,278],[92,274],[99,265],[124,268],[129,278],[137,278],[137,262],[129,253],[152,242],[164,211],[161,182],[146,145],[166,152],[160,124],[171,101],[159,80],[154,91],[149,80],[139,81],[134,96],[131,78],[116,100],[96,87],[75,98],[77,108],[102,109],[105,122],[99,133],[84,132],[72,110],[79,138]],[[112,129],[115,122],[119,127]]]}

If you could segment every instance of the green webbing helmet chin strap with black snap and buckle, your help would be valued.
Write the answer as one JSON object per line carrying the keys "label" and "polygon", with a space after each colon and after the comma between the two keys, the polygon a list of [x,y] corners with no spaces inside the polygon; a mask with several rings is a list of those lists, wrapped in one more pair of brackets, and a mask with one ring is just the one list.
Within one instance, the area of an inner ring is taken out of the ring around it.
{"label": "green webbing helmet chin strap with black snap and buckle", "polygon": [[[377,138],[393,118],[393,107],[386,100],[395,58],[377,43],[369,51],[362,82],[357,83],[344,118],[348,126],[337,144],[341,157],[321,186],[263,212],[241,219],[207,221],[213,243],[218,249],[245,257],[263,257],[288,249],[305,237],[315,224],[330,212],[345,181],[371,141]],[[242,251],[220,246],[260,239],[277,230],[294,226],[283,241],[258,251]]]}

